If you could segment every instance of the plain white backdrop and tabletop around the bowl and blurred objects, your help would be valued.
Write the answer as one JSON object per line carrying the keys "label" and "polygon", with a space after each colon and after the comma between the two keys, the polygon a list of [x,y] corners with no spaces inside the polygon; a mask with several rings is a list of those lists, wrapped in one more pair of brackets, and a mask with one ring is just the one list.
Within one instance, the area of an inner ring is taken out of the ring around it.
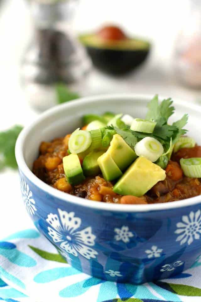
{"label": "plain white backdrop and tabletop around the bowl and blurred objects", "polygon": [[[200,93],[179,86],[172,73],[173,45],[187,9],[186,0],[82,0],[73,24],[75,31],[90,31],[114,21],[130,35],[149,38],[154,45],[148,63],[132,77],[116,80],[93,72],[87,93],[161,93],[189,103],[199,100]],[[28,125],[38,115],[30,108],[19,78],[20,60],[31,31],[28,5],[23,0],[5,0],[0,7],[0,130],[16,123]],[[0,173],[0,204],[0,238],[30,226],[16,171]]]}

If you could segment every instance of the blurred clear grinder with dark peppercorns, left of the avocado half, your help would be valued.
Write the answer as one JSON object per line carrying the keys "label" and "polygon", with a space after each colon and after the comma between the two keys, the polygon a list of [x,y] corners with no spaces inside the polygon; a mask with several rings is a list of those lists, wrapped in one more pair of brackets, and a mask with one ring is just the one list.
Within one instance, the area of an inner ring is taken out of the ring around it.
{"label": "blurred clear grinder with dark peppercorns, left of the avocado half", "polygon": [[90,59],[71,30],[77,0],[31,0],[34,35],[24,53],[21,82],[30,104],[45,110],[57,103],[55,83],[79,82]]}

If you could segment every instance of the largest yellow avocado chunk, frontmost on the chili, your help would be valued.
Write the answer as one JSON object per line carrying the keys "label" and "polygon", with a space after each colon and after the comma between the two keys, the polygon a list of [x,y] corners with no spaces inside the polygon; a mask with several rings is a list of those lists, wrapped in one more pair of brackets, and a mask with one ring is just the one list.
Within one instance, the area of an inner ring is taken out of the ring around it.
{"label": "largest yellow avocado chunk, frontmost on the chili", "polygon": [[123,174],[113,187],[113,191],[121,195],[140,197],[165,178],[165,170],[142,156]]}

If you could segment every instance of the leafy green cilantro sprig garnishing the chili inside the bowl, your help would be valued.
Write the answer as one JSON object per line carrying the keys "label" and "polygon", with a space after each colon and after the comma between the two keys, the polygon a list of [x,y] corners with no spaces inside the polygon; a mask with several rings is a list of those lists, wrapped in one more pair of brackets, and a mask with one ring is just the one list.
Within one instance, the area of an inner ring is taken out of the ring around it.
{"label": "leafy green cilantro sprig garnishing the chili inside the bowl", "polygon": [[104,130],[102,130],[102,138],[104,137],[105,141],[107,140],[107,142],[110,142],[111,134],[115,131],[115,133],[121,135],[125,142],[132,149],[134,149],[136,143],[144,137],[153,137],[160,141],[160,143],[164,147],[164,151],[166,152],[171,147],[171,144],[176,143],[179,137],[187,132],[186,129],[183,129],[183,127],[187,124],[187,114],[185,114],[181,118],[181,120],[174,122],[172,125],[168,124],[168,119],[171,115],[174,114],[175,110],[175,108],[172,106],[172,103],[173,101],[171,100],[171,98],[168,98],[164,99],[159,104],[158,95],[155,95],[155,97],[149,102],[146,119],[156,122],[153,133],[132,131],[130,130],[130,128],[128,128],[128,126],[126,126],[125,124],[122,125],[121,123],[119,124],[121,126],[118,127],[107,126],[106,128],[104,128]]}

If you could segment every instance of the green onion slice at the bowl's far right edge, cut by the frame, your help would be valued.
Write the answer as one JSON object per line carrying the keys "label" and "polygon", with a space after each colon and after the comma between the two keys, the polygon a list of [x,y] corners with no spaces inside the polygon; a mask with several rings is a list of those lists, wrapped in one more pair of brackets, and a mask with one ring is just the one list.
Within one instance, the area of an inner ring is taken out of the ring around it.
{"label": "green onion slice at the bowl's far right edge, cut by the frame", "polygon": [[193,157],[187,159],[180,159],[180,165],[183,173],[187,177],[201,177],[201,158]]}

